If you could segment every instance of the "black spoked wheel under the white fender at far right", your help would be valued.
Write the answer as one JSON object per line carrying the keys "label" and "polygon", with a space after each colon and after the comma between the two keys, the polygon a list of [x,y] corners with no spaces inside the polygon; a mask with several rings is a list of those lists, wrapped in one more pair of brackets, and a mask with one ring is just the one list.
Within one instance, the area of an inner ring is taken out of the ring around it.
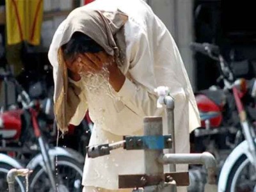
{"label": "black spoked wheel under the white fender at far right", "polygon": [[225,191],[256,191],[255,168],[244,154],[237,159],[230,174],[228,175]]}

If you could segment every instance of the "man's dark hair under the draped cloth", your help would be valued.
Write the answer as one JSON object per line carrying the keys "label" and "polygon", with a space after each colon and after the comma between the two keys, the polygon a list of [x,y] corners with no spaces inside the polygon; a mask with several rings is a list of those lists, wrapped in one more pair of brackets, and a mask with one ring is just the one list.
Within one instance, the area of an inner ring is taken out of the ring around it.
{"label": "man's dark hair under the draped cloth", "polygon": [[84,54],[84,52],[104,51],[92,38],[79,31],[76,31],[67,44],[61,46],[61,49],[63,50],[63,58],[66,61],[74,59],[77,54]]}

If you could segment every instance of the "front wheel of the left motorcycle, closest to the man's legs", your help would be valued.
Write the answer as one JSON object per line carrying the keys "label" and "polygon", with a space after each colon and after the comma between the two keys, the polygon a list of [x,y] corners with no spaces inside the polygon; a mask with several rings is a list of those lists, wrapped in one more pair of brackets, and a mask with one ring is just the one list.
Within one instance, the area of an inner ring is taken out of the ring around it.
{"label": "front wheel of the left motorcycle, closest to the man's legs", "polygon": [[[58,191],[82,191],[83,164],[67,156],[58,156],[56,183]],[[42,166],[37,166],[29,176],[29,191],[49,192],[51,182]]]}

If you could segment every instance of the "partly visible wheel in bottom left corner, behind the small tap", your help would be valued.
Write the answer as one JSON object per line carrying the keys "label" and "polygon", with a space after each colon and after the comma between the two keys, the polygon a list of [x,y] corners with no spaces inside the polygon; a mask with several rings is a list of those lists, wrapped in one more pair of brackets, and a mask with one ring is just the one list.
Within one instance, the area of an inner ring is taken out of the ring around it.
{"label": "partly visible wheel in bottom left corner, behind the small tap", "polygon": [[[7,173],[14,168],[6,163],[0,163],[0,189],[3,191],[8,191],[8,182],[6,180]],[[25,192],[24,186],[25,180],[22,177],[15,178],[15,191]]]}

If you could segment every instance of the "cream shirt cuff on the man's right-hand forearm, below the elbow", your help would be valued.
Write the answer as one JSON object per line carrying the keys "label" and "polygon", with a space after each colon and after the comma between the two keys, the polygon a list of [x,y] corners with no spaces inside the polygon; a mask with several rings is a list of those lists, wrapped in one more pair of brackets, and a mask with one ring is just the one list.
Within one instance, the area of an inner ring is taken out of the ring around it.
{"label": "cream shirt cuff on the man's right-hand forearm, below the elbow", "polygon": [[117,92],[119,97],[130,99],[136,92],[136,84],[132,83],[127,77],[125,78],[122,88]]}

